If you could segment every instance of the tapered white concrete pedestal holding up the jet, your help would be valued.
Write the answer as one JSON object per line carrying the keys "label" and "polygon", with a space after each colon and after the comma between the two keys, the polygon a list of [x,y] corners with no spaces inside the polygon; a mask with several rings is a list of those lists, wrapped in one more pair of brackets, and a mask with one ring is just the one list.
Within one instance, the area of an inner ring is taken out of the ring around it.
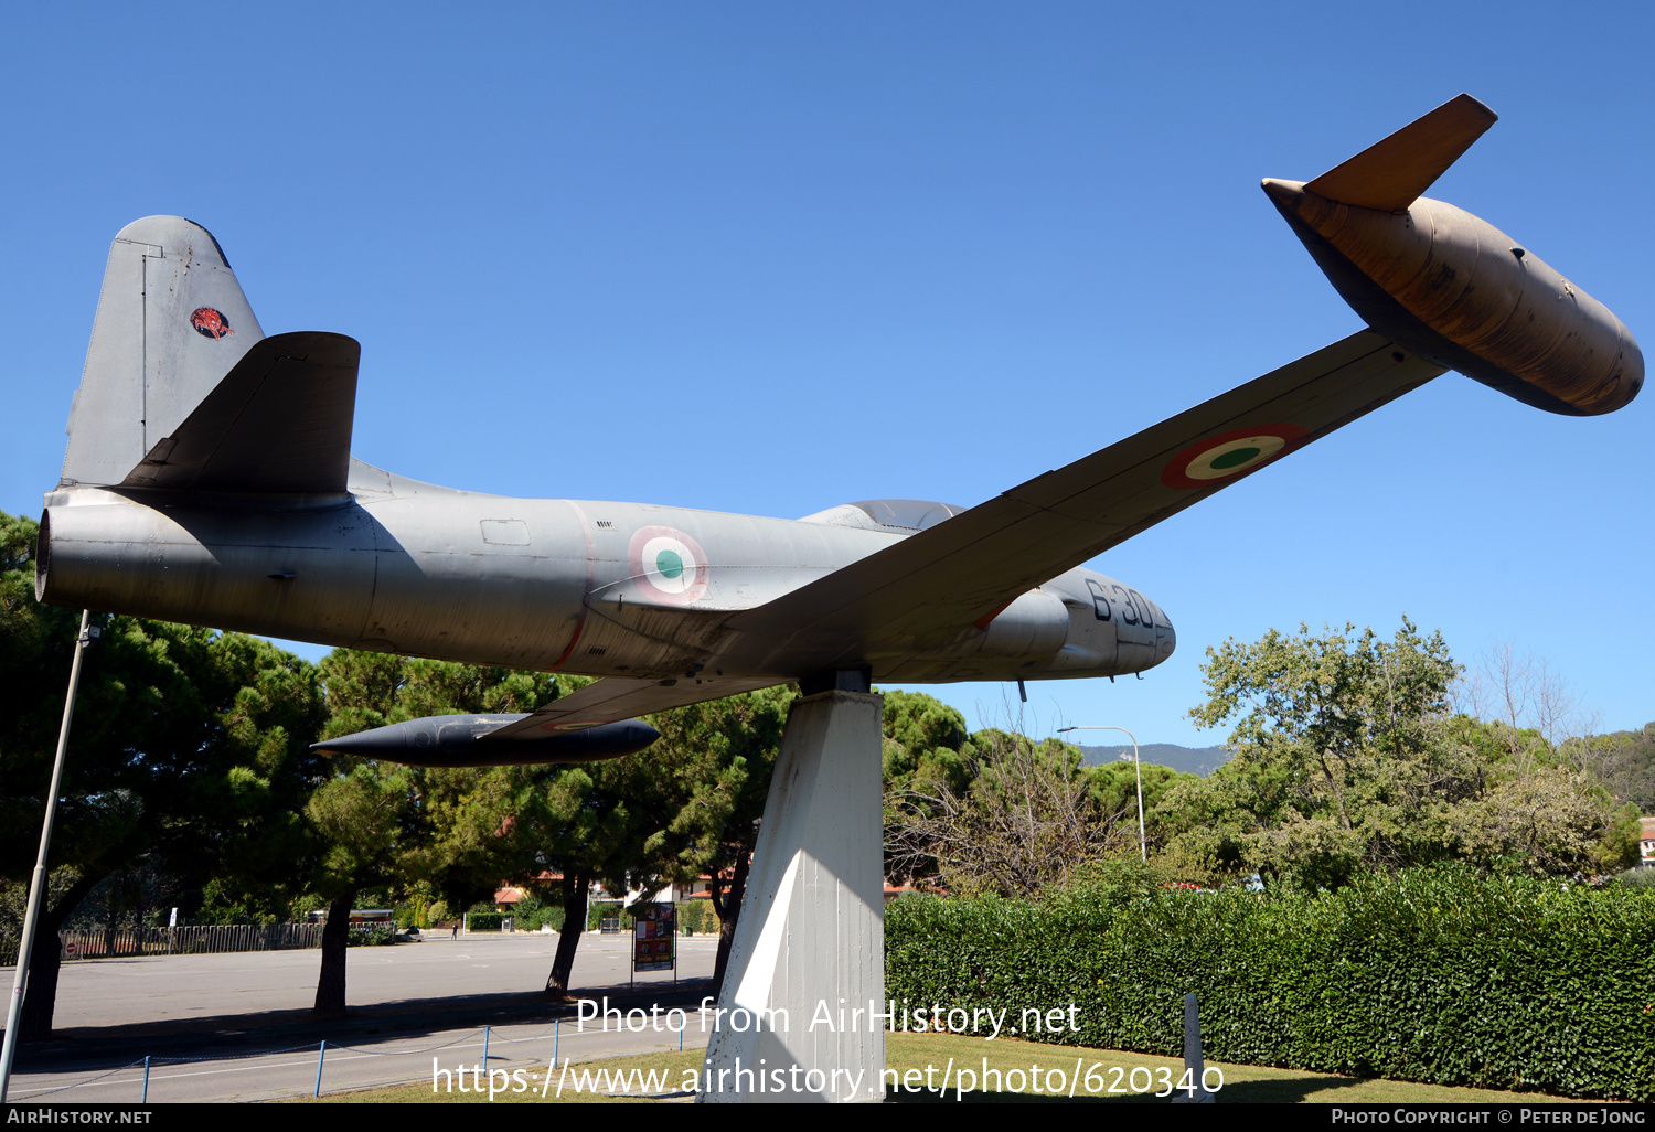
{"label": "tapered white concrete pedestal holding up the jet", "polygon": [[871,1018],[887,1010],[882,703],[861,692],[793,703],[702,1102],[884,1097],[885,1019]]}

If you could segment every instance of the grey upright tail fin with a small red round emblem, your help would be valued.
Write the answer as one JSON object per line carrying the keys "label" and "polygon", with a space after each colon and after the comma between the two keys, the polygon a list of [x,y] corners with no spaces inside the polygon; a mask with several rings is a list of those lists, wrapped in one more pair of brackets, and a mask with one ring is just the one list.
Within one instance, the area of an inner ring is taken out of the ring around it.
{"label": "grey upright tail fin with a small red round emblem", "polygon": [[182,217],[121,228],[60,487],[121,483],[263,336],[207,228]]}

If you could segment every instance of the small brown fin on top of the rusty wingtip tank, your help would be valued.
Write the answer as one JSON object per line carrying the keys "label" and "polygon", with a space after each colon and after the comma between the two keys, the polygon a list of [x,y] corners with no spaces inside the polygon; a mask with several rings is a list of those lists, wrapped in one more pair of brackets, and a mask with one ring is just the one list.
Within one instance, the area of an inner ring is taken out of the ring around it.
{"label": "small brown fin on top of the rusty wingtip tank", "polygon": [[1460,94],[1334,165],[1304,189],[1359,209],[1402,212],[1498,119],[1483,103]]}

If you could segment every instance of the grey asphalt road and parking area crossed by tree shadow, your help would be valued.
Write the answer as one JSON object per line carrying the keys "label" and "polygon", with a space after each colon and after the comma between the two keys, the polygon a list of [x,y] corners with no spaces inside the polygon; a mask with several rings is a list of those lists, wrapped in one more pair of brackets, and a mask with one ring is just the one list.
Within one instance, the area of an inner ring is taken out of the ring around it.
{"label": "grey asphalt road and parking area crossed by tree shadow", "polygon": [[[611,1014],[607,1028],[581,1024],[576,1006],[541,995],[553,935],[351,948],[351,1014],[326,1023],[309,1018],[318,950],[66,962],[55,1039],[20,1049],[8,1099],[131,1104],[144,1091],[146,1056],[156,1104],[311,1096],[318,1062],[323,1092],[432,1081],[434,1067],[462,1066],[468,1082],[482,1066],[485,1084],[492,1069],[521,1069],[538,1089],[554,1053],[581,1062],[705,1046],[697,1005],[713,993],[717,937],[680,940],[677,988],[670,973],[645,973],[629,990],[629,943],[588,935],[576,953],[574,995],[639,1011],[631,1024]],[[0,976],[10,983],[10,968]]]}

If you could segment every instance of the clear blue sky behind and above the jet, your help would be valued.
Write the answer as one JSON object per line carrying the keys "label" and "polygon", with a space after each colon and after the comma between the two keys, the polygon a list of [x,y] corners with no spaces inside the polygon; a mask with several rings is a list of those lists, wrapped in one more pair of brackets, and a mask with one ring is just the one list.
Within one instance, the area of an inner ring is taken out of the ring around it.
{"label": "clear blue sky behind and above the jet", "polygon": [[[13,5],[0,508],[56,482],[147,213],[212,228],[266,333],[362,343],[359,457],[506,495],[985,500],[1357,329],[1258,182],[1460,91],[1501,121],[1432,195],[1652,341],[1652,12]],[[1026,723],[1218,741],[1183,718],[1206,644],[1407,614],[1642,727],[1652,397],[1581,420],[1445,376],[1294,453],[1094,563],[1180,649],[1031,685]]]}

